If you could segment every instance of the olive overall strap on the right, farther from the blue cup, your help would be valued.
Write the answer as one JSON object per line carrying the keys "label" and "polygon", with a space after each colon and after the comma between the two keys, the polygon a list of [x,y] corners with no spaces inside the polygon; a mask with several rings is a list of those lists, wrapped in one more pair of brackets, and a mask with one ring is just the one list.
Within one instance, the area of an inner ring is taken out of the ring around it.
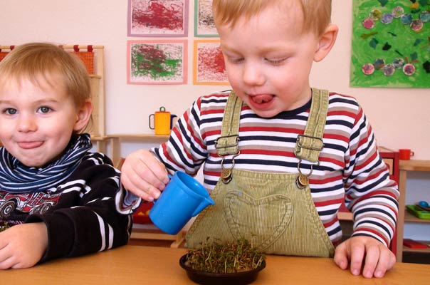
{"label": "olive overall strap on the right, farther from the blue cup", "polygon": [[312,88],[312,103],[305,133],[298,135],[294,154],[300,160],[318,162],[323,150],[323,133],[328,110],[328,91]]}

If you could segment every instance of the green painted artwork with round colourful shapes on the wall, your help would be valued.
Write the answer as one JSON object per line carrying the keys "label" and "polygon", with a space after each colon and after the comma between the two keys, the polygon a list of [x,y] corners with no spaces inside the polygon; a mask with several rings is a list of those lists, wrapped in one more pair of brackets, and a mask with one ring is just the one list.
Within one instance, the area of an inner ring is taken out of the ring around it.
{"label": "green painted artwork with round colourful shapes on the wall", "polygon": [[430,0],[354,0],[352,87],[430,87]]}

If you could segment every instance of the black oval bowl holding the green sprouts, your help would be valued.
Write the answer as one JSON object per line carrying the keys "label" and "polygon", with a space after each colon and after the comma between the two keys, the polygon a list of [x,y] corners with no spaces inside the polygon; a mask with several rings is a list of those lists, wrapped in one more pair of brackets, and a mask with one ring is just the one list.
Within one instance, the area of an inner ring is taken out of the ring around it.
{"label": "black oval bowl holding the green sprouts", "polygon": [[187,271],[188,278],[198,284],[205,285],[241,285],[241,284],[250,284],[253,281],[256,281],[258,272],[266,267],[266,261],[263,260],[261,266],[258,266],[256,269],[252,269],[249,271],[237,272],[237,273],[209,273],[204,271],[199,271],[196,269],[192,269],[187,266],[185,262],[187,261],[187,254],[183,255],[181,259],[179,259],[179,265]]}

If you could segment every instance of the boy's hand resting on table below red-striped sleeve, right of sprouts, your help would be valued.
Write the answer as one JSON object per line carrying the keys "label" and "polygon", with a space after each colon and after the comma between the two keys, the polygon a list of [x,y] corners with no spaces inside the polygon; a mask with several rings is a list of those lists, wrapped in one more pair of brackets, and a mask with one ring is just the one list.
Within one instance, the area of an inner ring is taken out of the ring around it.
{"label": "boy's hand resting on table below red-striped sleeve, right of sprouts", "polygon": [[357,236],[342,242],[335,250],[335,264],[340,269],[347,269],[349,261],[352,274],[360,275],[364,265],[362,274],[365,278],[380,278],[392,269],[396,257],[377,239]]}

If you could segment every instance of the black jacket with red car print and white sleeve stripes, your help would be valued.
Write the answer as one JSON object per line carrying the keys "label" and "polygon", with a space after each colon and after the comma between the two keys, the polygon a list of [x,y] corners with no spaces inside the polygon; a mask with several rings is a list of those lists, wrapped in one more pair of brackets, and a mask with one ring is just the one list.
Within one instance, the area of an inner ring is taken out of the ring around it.
{"label": "black jacket with red car print and white sleeve stripes", "polygon": [[119,214],[120,172],[99,152],[88,152],[55,189],[28,194],[0,190],[0,220],[14,225],[45,222],[48,247],[41,261],[77,257],[127,244],[132,214]]}

